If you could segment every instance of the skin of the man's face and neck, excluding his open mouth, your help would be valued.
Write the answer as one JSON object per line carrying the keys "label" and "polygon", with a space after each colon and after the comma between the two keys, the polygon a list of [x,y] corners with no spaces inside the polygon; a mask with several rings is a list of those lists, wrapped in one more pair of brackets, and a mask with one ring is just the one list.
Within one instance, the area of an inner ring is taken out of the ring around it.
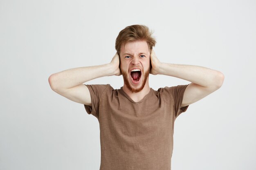
{"label": "skin of the man's face and neck, excluding his open mouth", "polygon": [[[145,41],[128,42],[121,47],[120,68],[124,78],[123,90],[131,97],[138,94],[147,94],[150,91],[148,75],[150,73],[150,50]],[[132,69],[140,69],[141,77],[139,84],[132,81],[130,72]],[[143,95],[141,95],[143,96]],[[139,100],[135,99],[136,101]]]}

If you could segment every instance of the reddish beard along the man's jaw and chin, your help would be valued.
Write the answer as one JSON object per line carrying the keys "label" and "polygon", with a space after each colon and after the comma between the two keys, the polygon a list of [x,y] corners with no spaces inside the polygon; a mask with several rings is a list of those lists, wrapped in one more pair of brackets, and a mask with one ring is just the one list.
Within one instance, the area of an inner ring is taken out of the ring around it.
{"label": "reddish beard along the man's jaw and chin", "polygon": [[130,75],[128,75],[127,72],[123,71],[122,69],[121,70],[121,74],[123,75],[123,78],[124,78],[124,84],[126,85],[126,87],[132,92],[132,93],[138,93],[140,91],[142,91],[142,89],[144,88],[146,82],[147,82],[147,79],[148,79],[148,75],[150,73],[150,68],[148,68],[148,70],[144,73],[144,79],[143,79],[143,82],[142,82],[142,85],[140,88],[133,88],[130,83],[129,83],[129,79],[130,79]]}

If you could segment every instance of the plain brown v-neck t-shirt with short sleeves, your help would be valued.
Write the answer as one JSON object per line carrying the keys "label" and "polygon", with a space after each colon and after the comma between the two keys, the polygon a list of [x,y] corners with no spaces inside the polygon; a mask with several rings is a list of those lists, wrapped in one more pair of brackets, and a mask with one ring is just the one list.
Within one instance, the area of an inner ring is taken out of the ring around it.
{"label": "plain brown v-neck t-shirt with short sleeves", "polygon": [[86,85],[92,106],[88,114],[99,120],[100,170],[171,170],[174,121],[187,85],[150,88],[134,102],[121,89],[107,85]]}

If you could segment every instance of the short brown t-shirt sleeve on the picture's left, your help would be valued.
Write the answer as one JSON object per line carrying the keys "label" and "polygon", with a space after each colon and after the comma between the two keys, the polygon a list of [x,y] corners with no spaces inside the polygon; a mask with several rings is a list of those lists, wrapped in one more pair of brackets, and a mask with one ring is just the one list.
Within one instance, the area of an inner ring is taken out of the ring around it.
{"label": "short brown t-shirt sleeve on the picture's left", "polygon": [[90,91],[90,96],[91,96],[91,101],[92,101],[92,106],[85,105],[85,110],[86,112],[90,115],[94,115],[99,119],[99,102],[101,95],[104,93],[107,87],[109,87],[109,84],[97,84],[97,85],[85,85],[88,87]]}

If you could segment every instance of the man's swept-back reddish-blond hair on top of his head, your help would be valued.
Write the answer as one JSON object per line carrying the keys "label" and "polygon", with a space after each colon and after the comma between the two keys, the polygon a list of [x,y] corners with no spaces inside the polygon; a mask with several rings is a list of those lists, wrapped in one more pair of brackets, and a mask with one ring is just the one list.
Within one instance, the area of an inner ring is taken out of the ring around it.
{"label": "man's swept-back reddish-blond hair on top of his head", "polygon": [[153,32],[149,31],[148,27],[145,25],[126,26],[126,28],[120,31],[117,36],[115,49],[120,55],[121,46],[123,44],[125,46],[127,42],[145,40],[151,51],[153,46],[156,44],[155,38],[152,37],[152,34]]}

